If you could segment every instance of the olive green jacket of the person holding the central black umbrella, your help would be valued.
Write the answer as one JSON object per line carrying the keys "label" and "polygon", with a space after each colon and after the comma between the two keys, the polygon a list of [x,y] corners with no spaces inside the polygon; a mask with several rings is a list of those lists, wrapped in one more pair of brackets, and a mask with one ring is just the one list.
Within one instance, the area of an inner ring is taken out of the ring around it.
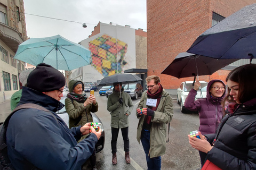
{"label": "olive green jacket of the person holding the central black umbrella", "polygon": [[133,109],[132,99],[129,94],[124,92],[123,88],[121,90],[121,96],[123,98],[122,104],[118,101],[120,92],[116,92],[115,89],[113,89],[113,94],[108,96],[107,109],[111,114],[110,126],[112,128],[126,128],[129,126],[129,115]]}

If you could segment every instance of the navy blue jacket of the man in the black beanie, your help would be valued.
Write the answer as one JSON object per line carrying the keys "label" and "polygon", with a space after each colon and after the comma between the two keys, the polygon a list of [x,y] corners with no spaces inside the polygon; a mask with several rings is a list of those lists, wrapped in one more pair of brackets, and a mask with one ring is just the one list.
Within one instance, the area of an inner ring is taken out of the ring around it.
{"label": "navy blue jacket of the man in the black beanie", "polygon": [[15,112],[9,122],[6,141],[8,155],[15,169],[81,169],[92,155],[95,134],[77,143],[81,138],[80,128],[69,130],[55,112],[64,105],[42,92],[23,87],[20,104],[34,103],[45,107],[52,114],[34,108]]}

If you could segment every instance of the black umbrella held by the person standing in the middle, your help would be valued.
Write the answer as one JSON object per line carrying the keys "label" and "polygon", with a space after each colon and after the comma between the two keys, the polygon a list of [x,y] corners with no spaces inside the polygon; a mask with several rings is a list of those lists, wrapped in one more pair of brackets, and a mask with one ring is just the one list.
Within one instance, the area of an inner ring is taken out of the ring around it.
{"label": "black umbrella held by the person standing in the middle", "polygon": [[[132,74],[114,74],[110,75],[108,77],[103,78],[98,86],[110,86],[113,85],[113,83],[133,83],[137,81],[142,81],[141,78],[139,78],[137,75]],[[121,96],[121,91],[120,91]]]}

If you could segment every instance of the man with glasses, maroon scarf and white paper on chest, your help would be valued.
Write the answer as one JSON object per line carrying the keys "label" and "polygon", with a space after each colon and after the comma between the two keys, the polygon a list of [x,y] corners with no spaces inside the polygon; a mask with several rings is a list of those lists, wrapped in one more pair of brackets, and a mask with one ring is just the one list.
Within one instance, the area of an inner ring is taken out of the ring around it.
{"label": "man with glasses, maroon scarf and white paper on chest", "polygon": [[137,140],[142,143],[148,169],[160,170],[161,156],[166,150],[166,123],[172,120],[173,103],[158,76],[151,75],[146,81],[148,90],[143,92],[137,108]]}

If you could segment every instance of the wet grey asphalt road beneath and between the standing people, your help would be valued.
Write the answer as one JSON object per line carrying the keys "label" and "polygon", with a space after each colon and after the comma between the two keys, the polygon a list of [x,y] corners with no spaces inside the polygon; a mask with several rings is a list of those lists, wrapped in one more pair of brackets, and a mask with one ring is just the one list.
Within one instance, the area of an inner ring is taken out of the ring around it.
{"label": "wet grey asphalt road beneath and between the standing people", "polygon": [[[89,95],[89,93],[87,95]],[[129,118],[131,164],[125,163],[122,133],[119,131],[117,140],[117,164],[112,165],[110,147],[111,127],[110,114],[107,111],[107,97],[100,96],[99,92],[94,92],[94,95],[99,103],[99,111],[96,114],[100,117],[105,129],[105,147],[96,155],[98,170],[147,169],[145,152],[143,151],[141,143],[139,144],[136,139],[138,119],[135,116],[135,108],[138,106],[140,97],[137,100],[133,100],[134,109]],[[166,145],[166,154],[162,156],[162,169],[195,170],[200,167],[199,154],[197,150],[189,145],[187,134],[190,131],[198,130],[198,114],[181,113],[177,100],[173,100],[173,105],[174,115],[170,126],[169,142]],[[91,169],[89,160],[87,160],[83,169]]]}

